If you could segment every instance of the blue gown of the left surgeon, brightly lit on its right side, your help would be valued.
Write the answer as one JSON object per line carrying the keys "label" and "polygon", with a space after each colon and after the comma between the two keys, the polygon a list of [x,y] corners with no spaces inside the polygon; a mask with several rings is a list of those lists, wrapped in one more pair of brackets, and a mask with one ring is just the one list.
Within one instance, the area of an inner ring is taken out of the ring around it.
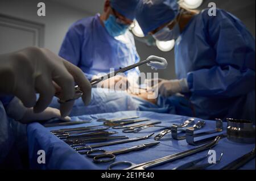
{"label": "blue gown of the left surgeon, brightly lit on its right side", "polygon": [[[98,73],[109,73],[110,68],[118,70],[139,62],[133,35],[127,31],[118,40],[110,36],[99,14],[81,19],[69,28],[59,56],[79,66],[88,79]],[[136,76],[139,69],[127,73]]]}

